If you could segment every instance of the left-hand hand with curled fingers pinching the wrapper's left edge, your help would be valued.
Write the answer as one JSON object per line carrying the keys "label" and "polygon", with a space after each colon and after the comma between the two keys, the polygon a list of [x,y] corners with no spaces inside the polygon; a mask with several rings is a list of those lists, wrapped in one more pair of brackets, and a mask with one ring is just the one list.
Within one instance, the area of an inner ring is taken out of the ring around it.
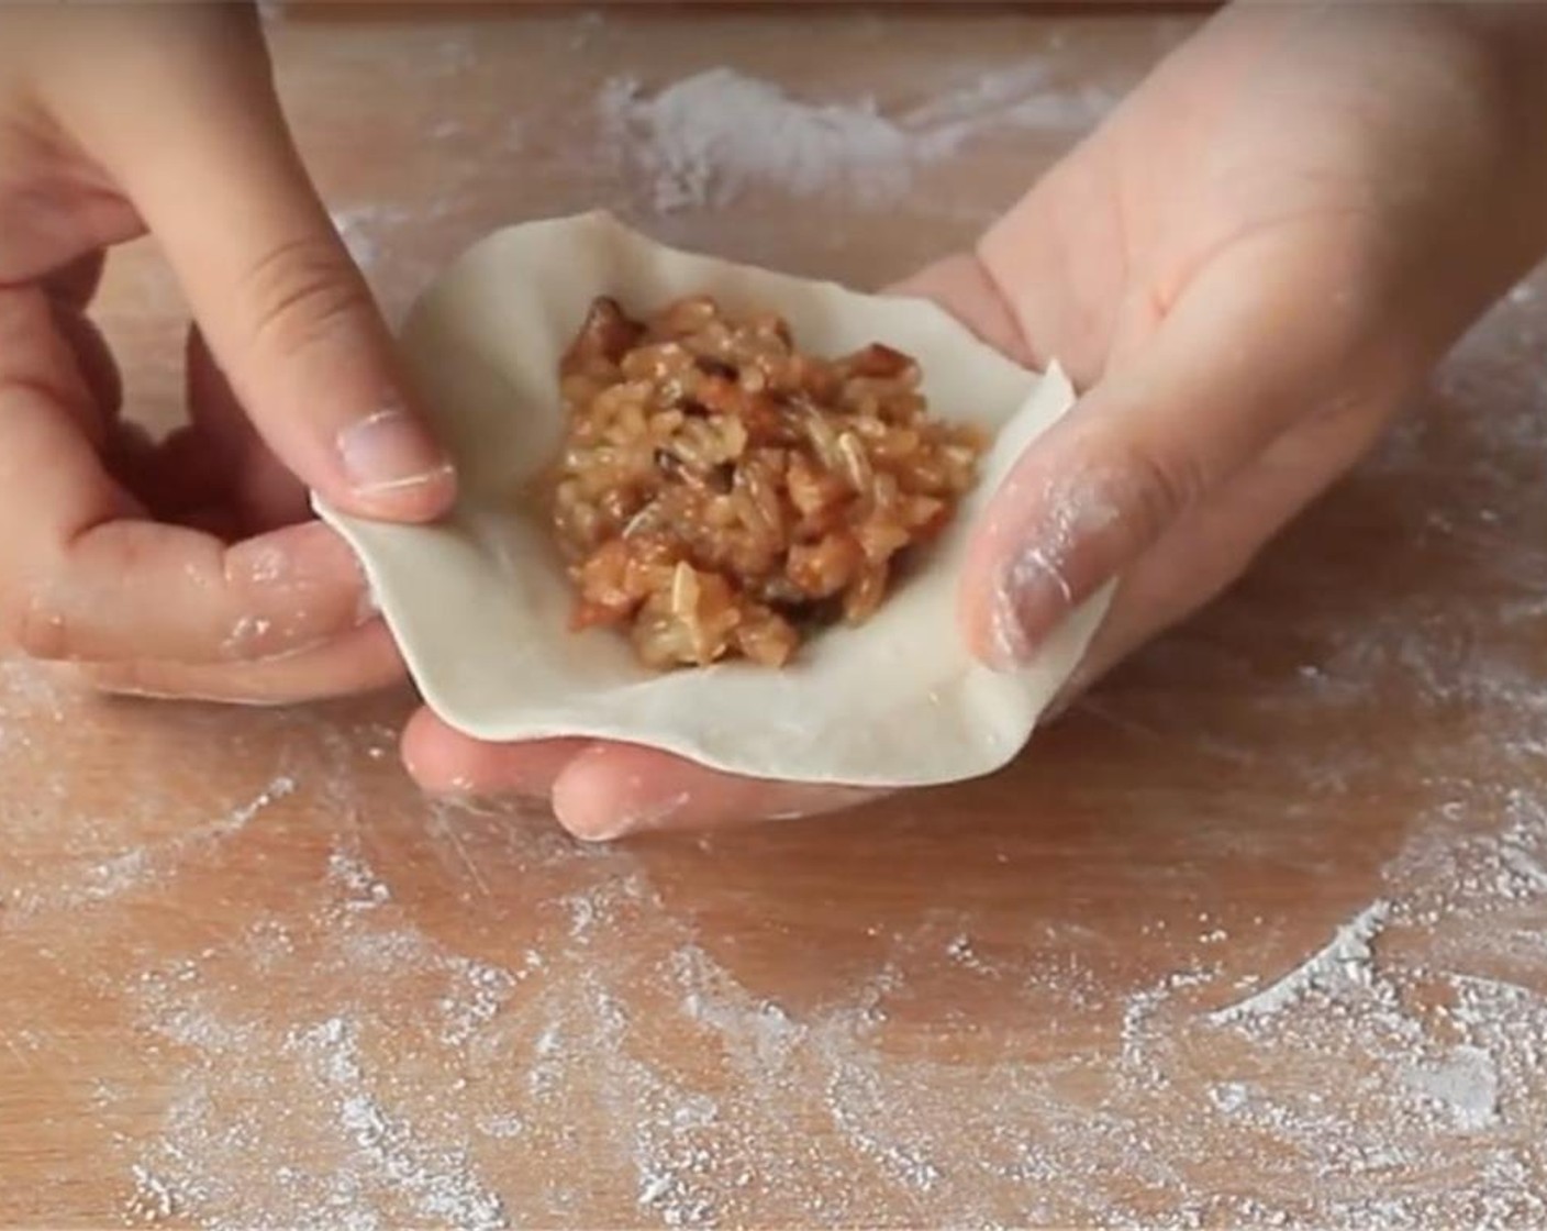
{"label": "left-hand hand with curled fingers pinching the wrapper's left edge", "polygon": [[[85,308],[150,232],[190,424],[153,444]],[[280,113],[255,15],[0,14],[0,629],[104,688],[292,700],[401,664],[306,486],[422,520],[455,475]]]}

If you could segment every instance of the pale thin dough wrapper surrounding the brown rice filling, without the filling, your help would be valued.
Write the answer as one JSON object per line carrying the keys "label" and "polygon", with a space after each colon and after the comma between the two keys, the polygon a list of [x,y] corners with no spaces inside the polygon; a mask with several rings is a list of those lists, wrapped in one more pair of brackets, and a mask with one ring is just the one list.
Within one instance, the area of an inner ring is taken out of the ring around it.
{"label": "pale thin dough wrapper surrounding the brown rice filling, without the filling", "polygon": [[[616,630],[569,630],[574,595],[531,500],[563,430],[558,359],[600,294],[633,314],[709,294],[730,311],[781,313],[811,353],[873,341],[908,351],[931,413],[995,434],[981,480],[860,627],[820,632],[783,669],[651,672]],[[953,782],[1021,749],[1105,615],[1106,591],[1013,675],[962,643],[956,590],[972,526],[1074,390],[1057,364],[1027,372],[934,303],[674,251],[585,214],[476,243],[425,291],[402,342],[456,461],[458,506],[430,526],[319,513],[359,554],[429,706],[469,736],[605,737],[792,782]]]}

